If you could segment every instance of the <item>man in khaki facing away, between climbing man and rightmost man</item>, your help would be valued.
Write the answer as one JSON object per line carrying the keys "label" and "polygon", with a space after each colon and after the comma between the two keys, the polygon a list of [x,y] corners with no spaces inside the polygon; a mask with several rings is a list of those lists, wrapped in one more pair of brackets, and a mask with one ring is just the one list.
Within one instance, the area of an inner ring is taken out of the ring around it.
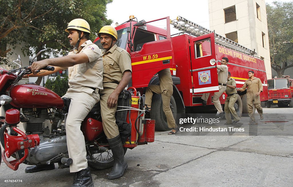
{"label": "man in khaki facing away, between climbing man and rightmost man", "polygon": [[[227,85],[226,85],[226,94],[227,98],[225,101],[225,118],[227,120],[226,125],[231,125],[231,124],[236,124],[239,122],[240,118],[237,115],[234,104],[237,101],[238,95],[237,95],[237,90],[236,90],[236,81],[231,78],[231,73],[228,71],[228,80],[227,80]],[[231,120],[231,114],[233,115],[234,121],[232,122]]]}

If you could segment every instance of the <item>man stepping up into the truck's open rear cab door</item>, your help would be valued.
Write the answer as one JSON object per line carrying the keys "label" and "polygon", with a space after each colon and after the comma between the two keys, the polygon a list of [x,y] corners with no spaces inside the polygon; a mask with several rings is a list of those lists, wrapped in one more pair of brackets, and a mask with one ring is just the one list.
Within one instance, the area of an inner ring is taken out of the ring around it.
{"label": "man stepping up into the truck's open rear cab door", "polygon": [[[228,79],[228,64],[229,59],[227,57],[223,57],[221,61],[221,65],[216,65],[218,70],[218,82],[219,82],[219,92],[214,93],[214,97],[212,99],[214,106],[220,114],[220,119],[224,117],[224,112],[220,103],[220,96],[226,90],[226,83]],[[204,93],[201,97],[203,106],[207,105],[207,99],[209,98],[210,93]]]}

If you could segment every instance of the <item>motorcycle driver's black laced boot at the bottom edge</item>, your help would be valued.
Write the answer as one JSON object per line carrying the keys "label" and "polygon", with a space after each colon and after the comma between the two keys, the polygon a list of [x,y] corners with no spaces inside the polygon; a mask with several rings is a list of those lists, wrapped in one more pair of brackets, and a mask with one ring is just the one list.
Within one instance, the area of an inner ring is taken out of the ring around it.
{"label": "motorcycle driver's black laced boot at the bottom edge", "polygon": [[71,187],[93,187],[93,178],[91,177],[91,169],[81,169],[75,173],[73,185]]}

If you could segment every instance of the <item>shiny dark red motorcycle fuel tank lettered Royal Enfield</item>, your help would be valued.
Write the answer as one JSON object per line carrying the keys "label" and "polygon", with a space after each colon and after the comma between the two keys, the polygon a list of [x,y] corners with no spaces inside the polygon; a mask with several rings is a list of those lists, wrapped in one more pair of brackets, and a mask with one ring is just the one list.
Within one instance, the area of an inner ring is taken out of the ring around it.
{"label": "shiny dark red motorcycle fuel tank lettered Royal Enfield", "polygon": [[63,100],[48,88],[34,85],[21,84],[11,89],[11,105],[17,108],[62,108]]}

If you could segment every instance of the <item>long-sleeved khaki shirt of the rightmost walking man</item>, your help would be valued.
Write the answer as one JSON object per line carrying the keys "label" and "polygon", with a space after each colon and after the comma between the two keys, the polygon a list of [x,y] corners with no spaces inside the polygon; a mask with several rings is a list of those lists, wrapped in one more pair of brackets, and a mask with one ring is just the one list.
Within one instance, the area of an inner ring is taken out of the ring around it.
{"label": "long-sleeved khaki shirt of the rightmost walking man", "polygon": [[247,98],[253,98],[256,97],[255,95],[257,94],[258,91],[263,91],[263,84],[260,81],[259,78],[254,77],[253,80],[248,79],[245,81],[244,85],[242,88],[239,89],[239,91],[244,91],[247,87]]}

